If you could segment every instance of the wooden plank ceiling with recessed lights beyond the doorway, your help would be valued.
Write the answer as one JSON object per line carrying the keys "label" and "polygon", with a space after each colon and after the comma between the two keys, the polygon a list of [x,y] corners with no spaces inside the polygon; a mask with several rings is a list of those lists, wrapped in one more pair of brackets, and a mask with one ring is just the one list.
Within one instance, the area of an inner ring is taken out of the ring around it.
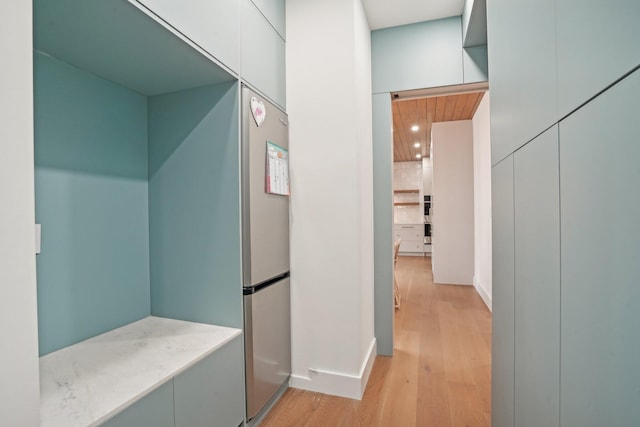
{"label": "wooden plank ceiling with recessed lights beyond the doorway", "polygon": [[[483,95],[472,92],[393,101],[393,161],[416,161],[418,154],[429,157],[431,124],[473,118]],[[416,125],[418,130],[411,130]]]}

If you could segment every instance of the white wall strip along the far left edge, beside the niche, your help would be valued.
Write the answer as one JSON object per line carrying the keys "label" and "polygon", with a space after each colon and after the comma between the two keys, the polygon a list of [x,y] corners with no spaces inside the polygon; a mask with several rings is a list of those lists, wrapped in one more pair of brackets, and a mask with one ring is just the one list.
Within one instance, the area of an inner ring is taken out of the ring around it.
{"label": "white wall strip along the far left edge, beside the niche", "polygon": [[0,424],[40,425],[31,2],[0,2]]}

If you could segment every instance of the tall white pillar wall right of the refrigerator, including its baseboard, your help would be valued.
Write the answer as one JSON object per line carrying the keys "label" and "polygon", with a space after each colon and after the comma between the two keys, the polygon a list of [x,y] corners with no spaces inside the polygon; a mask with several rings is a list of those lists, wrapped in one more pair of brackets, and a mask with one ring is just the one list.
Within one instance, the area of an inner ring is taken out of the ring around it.
{"label": "tall white pillar wall right of the refrigerator, including its baseboard", "polygon": [[359,0],[289,0],[292,379],[360,398],[375,356],[370,33]]}

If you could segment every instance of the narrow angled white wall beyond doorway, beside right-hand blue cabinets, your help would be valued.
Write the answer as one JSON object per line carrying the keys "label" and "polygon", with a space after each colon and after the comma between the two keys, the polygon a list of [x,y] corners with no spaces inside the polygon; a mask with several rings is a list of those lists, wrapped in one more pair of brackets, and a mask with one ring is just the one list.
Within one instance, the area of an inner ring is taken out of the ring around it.
{"label": "narrow angled white wall beyond doorway, beside right-hand blue cabinets", "polygon": [[489,92],[473,116],[473,285],[491,310],[491,135]]}

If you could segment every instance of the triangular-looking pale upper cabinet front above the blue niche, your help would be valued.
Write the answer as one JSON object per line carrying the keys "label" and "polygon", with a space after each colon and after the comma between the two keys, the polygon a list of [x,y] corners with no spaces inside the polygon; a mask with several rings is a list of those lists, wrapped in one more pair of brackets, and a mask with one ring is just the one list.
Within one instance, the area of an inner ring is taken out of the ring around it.
{"label": "triangular-looking pale upper cabinet front above the blue niche", "polygon": [[237,0],[129,0],[167,22],[233,71],[240,64]]}

